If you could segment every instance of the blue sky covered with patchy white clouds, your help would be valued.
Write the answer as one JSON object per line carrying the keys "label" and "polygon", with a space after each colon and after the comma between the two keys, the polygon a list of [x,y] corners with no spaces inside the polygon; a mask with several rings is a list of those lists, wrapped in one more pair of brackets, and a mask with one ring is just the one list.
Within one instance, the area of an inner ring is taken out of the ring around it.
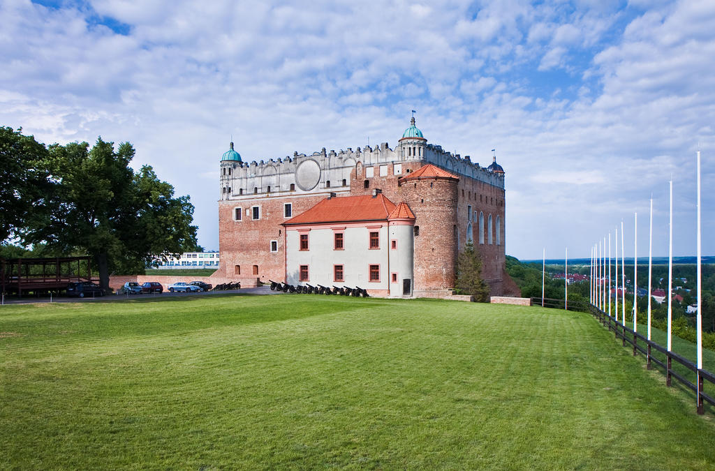
{"label": "blue sky covered with patchy white clouds", "polygon": [[715,2],[0,0],[0,125],[129,141],[218,249],[218,164],[433,144],[506,170],[507,254],[715,254]]}

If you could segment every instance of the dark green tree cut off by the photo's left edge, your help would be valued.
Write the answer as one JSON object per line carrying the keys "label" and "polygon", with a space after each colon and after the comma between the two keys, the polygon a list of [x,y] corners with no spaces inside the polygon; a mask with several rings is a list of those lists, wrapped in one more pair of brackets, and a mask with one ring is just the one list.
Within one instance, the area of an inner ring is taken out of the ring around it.
{"label": "dark green tree cut off by the photo's left edge", "polygon": [[47,149],[22,129],[0,127],[0,242],[18,234],[34,206],[46,196],[50,182]]}

